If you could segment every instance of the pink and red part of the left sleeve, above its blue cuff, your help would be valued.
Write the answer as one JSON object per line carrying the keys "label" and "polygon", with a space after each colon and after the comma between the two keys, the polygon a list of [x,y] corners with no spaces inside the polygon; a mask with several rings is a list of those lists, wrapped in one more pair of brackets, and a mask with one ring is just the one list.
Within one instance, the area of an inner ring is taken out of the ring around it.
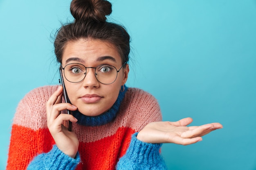
{"label": "pink and red part of the left sleeve, above its blue cuff", "polygon": [[47,128],[45,102],[57,86],[32,90],[19,102],[13,118],[7,170],[25,170],[40,153],[48,153],[55,144]]}

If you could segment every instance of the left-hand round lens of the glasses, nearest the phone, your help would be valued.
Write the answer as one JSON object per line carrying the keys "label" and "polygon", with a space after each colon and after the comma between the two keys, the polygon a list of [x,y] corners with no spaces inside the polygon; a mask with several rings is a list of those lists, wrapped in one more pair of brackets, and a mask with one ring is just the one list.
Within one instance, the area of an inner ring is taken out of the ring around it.
{"label": "left-hand round lens of the glasses, nearest the phone", "polygon": [[64,76],[67,81],[77,83],[85,78],[86,68],[82,64],[72,63],[64,68]]}

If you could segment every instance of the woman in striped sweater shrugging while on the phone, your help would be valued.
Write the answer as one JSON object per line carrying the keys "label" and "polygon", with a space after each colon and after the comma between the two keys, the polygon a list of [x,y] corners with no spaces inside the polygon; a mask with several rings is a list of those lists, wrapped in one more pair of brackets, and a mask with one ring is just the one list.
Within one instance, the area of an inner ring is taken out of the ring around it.
{"label": "woman in striped sweater shrugging while on the phone", "polygon": [[130,36],[106,22],[110,2],[73,0],[70,11],[74,22],[54,42],[70,103],[62,102],[62,86],[34,89],[21,100],[7,169],[166,169],[162,143],[193,144],[222,128],[187,127],[191,118],[161,122],[155,98],[125,85]]}

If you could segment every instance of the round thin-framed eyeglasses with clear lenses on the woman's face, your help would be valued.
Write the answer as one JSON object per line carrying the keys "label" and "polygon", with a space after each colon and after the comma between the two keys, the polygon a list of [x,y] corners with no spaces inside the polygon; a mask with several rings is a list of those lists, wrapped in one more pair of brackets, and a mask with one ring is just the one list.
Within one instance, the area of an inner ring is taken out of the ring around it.
{"label": "round thin-framed eyeglasses with clear lenses on the woman's face", "polygon": [[[124,63],[121,68],[123,68],[125,64],[126,63]],[[85,67],[83,64],[79,63],[67,64],[64,68],[62,66],[61,68],[64,70],[65,78],[71,83],[83,81],[87,73],[87,68],[94,68],[96,79],[105,85],[114,83],[117,79],[117,73],[121,70],[121,68],[117,70],[113,65],[104,64],[97,67]]]}

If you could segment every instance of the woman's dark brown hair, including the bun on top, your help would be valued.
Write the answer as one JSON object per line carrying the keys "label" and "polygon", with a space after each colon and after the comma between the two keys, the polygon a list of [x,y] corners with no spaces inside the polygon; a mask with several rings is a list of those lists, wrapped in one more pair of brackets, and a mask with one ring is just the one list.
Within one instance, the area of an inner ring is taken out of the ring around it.
{"label": "woman's dark brown hair, including the bun on top", "polygon": [[113,44],[122,59],[129,60],[130,36],[124,26],[106,21],[112,12],[107,0],[72,0],[70,12],[74,22],[63,25],[56,34],[54,48],[57,61],[61,63],[63,51],[68,41],[78,39],[99,39]]}

